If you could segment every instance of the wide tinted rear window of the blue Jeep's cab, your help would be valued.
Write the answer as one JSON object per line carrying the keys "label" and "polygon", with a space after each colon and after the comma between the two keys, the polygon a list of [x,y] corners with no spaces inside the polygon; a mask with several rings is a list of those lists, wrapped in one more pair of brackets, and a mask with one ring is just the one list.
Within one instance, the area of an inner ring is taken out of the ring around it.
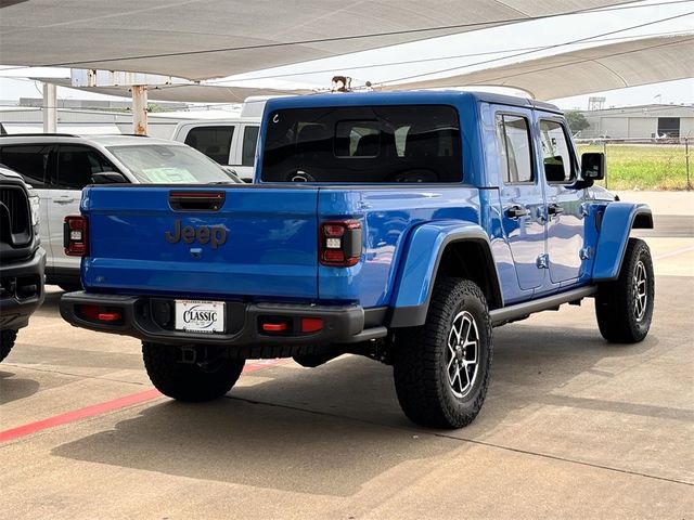
{"label": "wide tinted rear window of the blue Jeep's cab", "polygon": [[294,108],[269,115],[267,182],[460,182],[458,112],[447,105]]}

